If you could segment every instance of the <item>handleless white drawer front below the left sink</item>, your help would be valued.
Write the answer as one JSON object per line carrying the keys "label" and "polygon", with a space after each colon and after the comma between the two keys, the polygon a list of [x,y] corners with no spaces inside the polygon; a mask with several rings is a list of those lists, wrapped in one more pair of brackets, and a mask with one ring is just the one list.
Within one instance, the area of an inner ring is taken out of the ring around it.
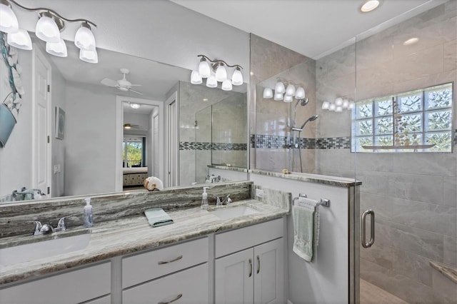
{"label": "handleless white drawer front below the left sink", "polygon": [[111,263],[0,290],[1,303],[81,303],[111,293]]}

